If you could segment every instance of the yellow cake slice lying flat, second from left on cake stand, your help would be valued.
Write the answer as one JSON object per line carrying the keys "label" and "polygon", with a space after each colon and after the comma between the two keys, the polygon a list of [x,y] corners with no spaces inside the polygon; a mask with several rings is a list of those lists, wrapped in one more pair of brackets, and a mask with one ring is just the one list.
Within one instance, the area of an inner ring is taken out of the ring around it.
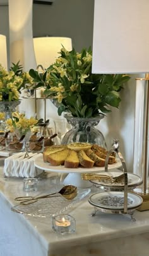
{"label": "yellow cake slice lying flat, second from left on cake stand", "polygon": [[70,151],[69,149],[63,149],[61,151],[57,151],[52,154],[49,154],[49,156],[47,156],[47,161],[54,166],[64,165],[64,161],[67,158],[69,151]]}

